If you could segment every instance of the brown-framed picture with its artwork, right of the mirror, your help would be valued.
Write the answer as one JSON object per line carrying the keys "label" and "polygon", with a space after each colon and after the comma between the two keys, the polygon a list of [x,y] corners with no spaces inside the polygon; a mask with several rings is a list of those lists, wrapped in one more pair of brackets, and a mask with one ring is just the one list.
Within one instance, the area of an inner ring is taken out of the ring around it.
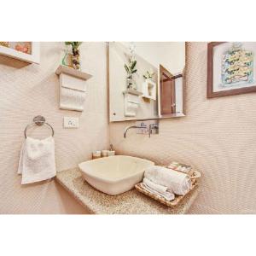
{"label": "brown-framed picture with its artwork, right of the mirror", "polygon": [[256,92],[256,43],[212,42],[207,52],[207,97]]}

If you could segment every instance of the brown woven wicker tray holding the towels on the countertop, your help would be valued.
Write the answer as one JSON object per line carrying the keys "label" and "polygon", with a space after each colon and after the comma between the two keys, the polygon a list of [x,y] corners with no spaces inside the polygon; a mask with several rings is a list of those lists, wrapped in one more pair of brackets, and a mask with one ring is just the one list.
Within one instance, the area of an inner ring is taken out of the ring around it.
{"label": "brown woven wicker tray holding the towels on the countertop", "polygon": [[195,181],[192,184],[192,188],[189,190],[189,192],[186,195],[175,195],[175,198],[172,201],[167,201],[166,199],[164,199],[163,197],[161,197],[159,195],[154,195],[154,194],[148,192],[148,190],[143,188],[142,183],[137,183],[135,185],[135,189],[137,189],[137,191],[143,193],[144,195],[148,195],[149,197],[153,198],[154,200],[159,201],[161,204],[164,204],[167,207],[178,207],[179,204],[181,203],[181,201],[183,201],[183,199],[185,197],[187,197],[197,186],[198,186],[198,183]]}

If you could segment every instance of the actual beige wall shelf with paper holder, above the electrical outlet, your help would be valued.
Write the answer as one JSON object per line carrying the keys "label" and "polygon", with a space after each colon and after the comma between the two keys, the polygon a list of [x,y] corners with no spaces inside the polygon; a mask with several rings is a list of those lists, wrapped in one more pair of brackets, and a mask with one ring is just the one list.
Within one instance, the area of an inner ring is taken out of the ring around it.
{"label": "actual beige wall shelf with paper holder, above the electrical outlet", "polygon": [[60,75],[60,108],[84,111],[85,81],[92,76],[89,73],[62,65],[57,68],[55,73]]}

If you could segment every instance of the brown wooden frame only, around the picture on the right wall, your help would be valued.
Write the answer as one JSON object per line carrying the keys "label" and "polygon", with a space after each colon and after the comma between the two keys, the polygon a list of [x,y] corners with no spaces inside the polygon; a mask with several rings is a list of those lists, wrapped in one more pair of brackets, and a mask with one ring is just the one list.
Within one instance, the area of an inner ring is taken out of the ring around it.
{"label": "brown wooden frame only, around the picture on the right wall", "polygon": [[227,42],[211,42],[207,45],[207,98],[218,96],[232,96],[249,92],[256,92],[256,85],[239,89],[213,91],[213,49],[219,44]]}

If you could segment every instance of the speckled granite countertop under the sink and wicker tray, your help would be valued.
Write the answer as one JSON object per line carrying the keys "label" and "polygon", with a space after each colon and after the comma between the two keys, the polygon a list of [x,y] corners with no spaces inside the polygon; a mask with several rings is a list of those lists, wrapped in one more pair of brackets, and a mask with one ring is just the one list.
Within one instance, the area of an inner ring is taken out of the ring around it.
{"label": "speckled granite countertop under the sink and wicker tray", "polygon": [[95,214],[183,214],[198,195],[198,187],[187,195],[177,208],[166,207],[132,189],[120,195],[106,195],[84,181],[79,168],[58,172],[56,181],[70,192],[84,208]]}

